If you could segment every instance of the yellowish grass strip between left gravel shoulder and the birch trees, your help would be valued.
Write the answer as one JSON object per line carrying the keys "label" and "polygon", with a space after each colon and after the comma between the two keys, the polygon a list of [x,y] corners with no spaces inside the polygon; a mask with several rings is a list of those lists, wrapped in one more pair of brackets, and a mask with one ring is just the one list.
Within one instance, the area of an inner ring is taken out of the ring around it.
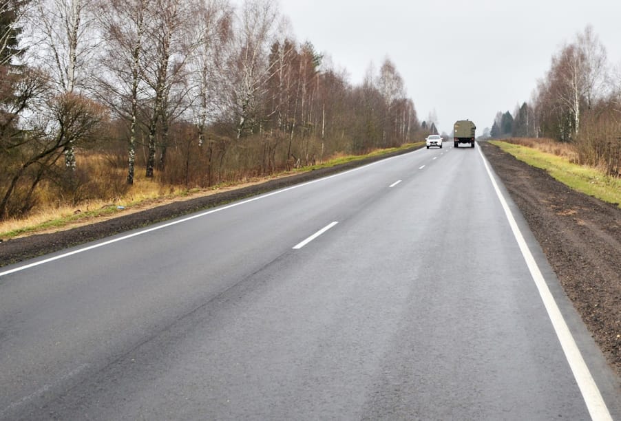
{"label": "yellowish grass strip between left gravel shoulder and the birch trees", "polygon": [[[165,202],[173,202],[176,200],[190,199],[201,195],[209,195],[218,193],[219,191],[230,190],[238,186],[246,186],[249,184],[259,184],[267,180],[273,180],[277,177],[286,177],[306,171],[337,166],[346,164],[347,162],[364,160],[379,155],[386,155],[406,149],[420,147],[424,142],[404,144],[398,148],[378,149],[366,155],[339,155],[321,164],[306,166],[293,171],[282,171],[269,177],[253,178],[252,180],[240,180],[236,183],[223,183],[211,188],[184,188],[182,186],[163,186],[153,180],[137,175],[134,186],[131,187],[129,193],[123,197],[119,197],[110,203],[109,201],[91,200],[80,204],[79,206],[56,206],[50,204],[45,206],[33,215],[29,215],[24,219],[8,219],[0,222],[0,239],[11,239],[23,235],[41,233],[45,230],[62,229],[77,224],[88,224],[105,217],[114,217],[116,214],[122,214],[127,210],[143,210],[152,208]],[[138,169],[136,171],[138,174]]]}

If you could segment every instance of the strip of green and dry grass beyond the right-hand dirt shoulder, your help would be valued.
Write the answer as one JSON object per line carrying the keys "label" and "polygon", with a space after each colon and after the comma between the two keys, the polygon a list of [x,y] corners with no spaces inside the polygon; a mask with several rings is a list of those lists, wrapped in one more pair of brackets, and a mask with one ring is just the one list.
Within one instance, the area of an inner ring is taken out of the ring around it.
{"label": "strip of green and dry grass beyond the right-hand dirt shoulder", "polygon": [[621,178],[611,177],[593,167],[573,163],[575,153],[570,145],[551,142],[538,144],[533,141],[526,142],[528,146],[524,146],[525,142],[520,140],[511,143],[493,140],[490,143],[520,161],[544,169],[573,190],[621,207]]}

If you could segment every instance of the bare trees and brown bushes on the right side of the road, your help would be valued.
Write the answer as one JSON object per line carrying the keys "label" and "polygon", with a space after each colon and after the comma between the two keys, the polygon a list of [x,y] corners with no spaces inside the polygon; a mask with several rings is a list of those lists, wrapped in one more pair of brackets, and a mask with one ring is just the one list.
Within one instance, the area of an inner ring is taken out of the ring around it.
{"label": "bare trees and brown bushes on the right side of the road", "polygon": [[529,102],[496,114],[490,136],[571,142],[580,164],[621,175],[621,69],[591,26],[552,56]]}

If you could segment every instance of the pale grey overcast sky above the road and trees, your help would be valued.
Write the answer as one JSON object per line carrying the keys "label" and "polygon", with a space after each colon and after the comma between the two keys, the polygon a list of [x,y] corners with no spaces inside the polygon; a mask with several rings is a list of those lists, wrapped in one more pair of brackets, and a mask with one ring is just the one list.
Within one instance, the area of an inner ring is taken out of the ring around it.
{"label": "pale grey overcast sky above the road and trees", "polygon": [[479,136],[497,111],[513,113],[589,24],[621,63],[621,0],[280,0],[280,10],[351,83],[390,58],[419,120],[435,110],[446,133],[468,118]]}

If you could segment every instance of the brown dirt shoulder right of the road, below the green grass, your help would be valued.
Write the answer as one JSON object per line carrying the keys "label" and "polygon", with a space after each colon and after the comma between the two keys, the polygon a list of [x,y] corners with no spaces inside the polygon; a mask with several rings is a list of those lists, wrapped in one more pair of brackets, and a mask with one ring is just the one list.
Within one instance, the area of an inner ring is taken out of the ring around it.
{"label": "brown dirt shoulder right of the road, below the green grass", "polygon": [[621,209],[571,190],[493,144],[479,144],[621,376]]}

